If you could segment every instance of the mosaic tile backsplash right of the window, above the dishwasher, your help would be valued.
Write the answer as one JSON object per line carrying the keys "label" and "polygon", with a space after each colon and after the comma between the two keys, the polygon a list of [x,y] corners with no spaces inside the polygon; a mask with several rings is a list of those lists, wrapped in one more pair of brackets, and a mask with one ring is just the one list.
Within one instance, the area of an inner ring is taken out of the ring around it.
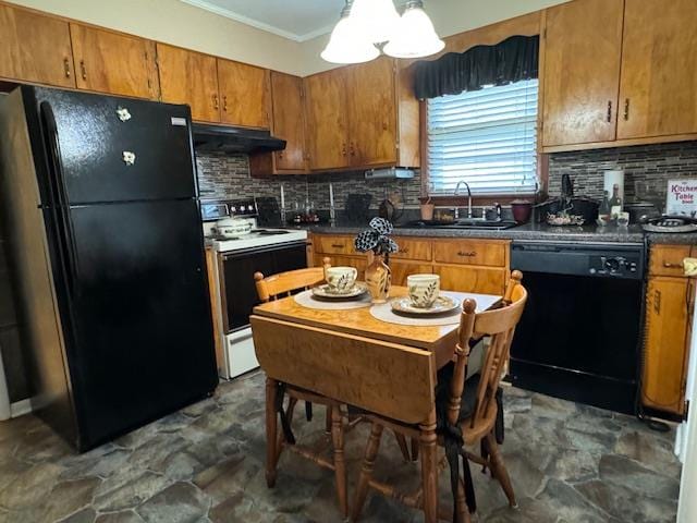
{"label": "mosaic tile backsplash right of the window, above the dishwasher", "polygon": [[625,172],[625,198],[634,198],[634,182],[656,183],[663,195],[668,180],[697,178],[697,142],[676,142],[613,149],[555,153],[549,158],[549,194],[561,193],[562,174],[574,180],[574,194],[602,197],[603,171]]}

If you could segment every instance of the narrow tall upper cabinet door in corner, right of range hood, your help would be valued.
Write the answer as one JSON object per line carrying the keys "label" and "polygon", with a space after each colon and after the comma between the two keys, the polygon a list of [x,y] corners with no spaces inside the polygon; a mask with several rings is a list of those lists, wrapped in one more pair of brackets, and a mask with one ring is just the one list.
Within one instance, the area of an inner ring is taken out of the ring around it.
{"label": "narrow tall upper cabinet door in corner, right of range hood", "polygon": [[285,139],[285,150],[274,153],[279,171],[304,171],[305,115],[303,110],[303,78],[271,72],[273,100],[273,135]]}

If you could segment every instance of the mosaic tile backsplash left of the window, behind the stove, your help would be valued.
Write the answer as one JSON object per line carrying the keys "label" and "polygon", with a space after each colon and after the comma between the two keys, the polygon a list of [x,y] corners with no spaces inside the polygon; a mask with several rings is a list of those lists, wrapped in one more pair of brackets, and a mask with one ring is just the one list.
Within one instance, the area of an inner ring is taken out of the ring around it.
{"label": "mosaic tile backsplash left of the window, behind the stove", "polygon": [[329,208],[329,183],[334,191],[334,205],[344,208],[351,193],[372,195],[371,208],[377,209],[387,194],[399,193],[405,207],[418,207],[421,182],[418,175],[411,180],[366,181],[364,172],[278,175],[252,178],[246,155],[206,153],[196,155],[198,185],[203,199],[241,199],[255,196],[276,196],[280,203],[281,183],[289,209],[295,202],[304,205],[308,199],[317,209]]}

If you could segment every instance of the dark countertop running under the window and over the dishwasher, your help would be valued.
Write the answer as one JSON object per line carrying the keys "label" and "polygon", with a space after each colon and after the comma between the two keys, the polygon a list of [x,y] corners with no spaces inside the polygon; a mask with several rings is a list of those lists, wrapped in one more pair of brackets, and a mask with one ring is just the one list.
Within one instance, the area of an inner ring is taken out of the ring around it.
{"label": "dark countertop running under the window and over the dishwasher", "polygon": [[[316,234],[357,234],[367,226],[338,223],[337,226],[317,224],[302,227]],[[650,244],[697,245],[697,233],[645,233],[641,226],[617,228],[616,226],[598,227],[552,227],[547,223],[526,223],[503,231],[438,229],[438,228],[400,228],[395,227],[395,236],[428,238],[487,238],[500,240],[547,240],[566,242],[610,242],[643,243],[646,236]]]}

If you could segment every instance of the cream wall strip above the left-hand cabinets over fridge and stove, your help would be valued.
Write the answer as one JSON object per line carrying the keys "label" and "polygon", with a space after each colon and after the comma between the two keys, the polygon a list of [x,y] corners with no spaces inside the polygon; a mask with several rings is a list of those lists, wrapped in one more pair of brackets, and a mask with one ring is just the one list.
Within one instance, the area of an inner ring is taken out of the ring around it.
{"label": "cream wall strip above the left-hand cabinets over fridge and stove", "polygon": [[179,0],[10,1],[276,71],[298,74],[305,69],[301,44]]}

